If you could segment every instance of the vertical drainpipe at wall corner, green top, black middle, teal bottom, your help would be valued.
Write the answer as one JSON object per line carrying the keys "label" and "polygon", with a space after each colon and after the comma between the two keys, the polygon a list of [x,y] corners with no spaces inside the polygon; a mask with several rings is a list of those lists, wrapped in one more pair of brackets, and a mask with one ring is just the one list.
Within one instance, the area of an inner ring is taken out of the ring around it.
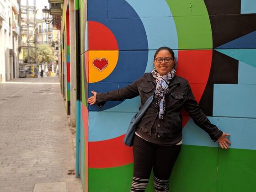
{"label": "vertical drainpipe at wall corner, green top, black middle, teal bottom", "polygon": [[81,89],[81,64],[80,64],[80,16],[79,0],[75,0],[75,50],[76,50],[76,139],[75,139],[75,176],[80,177],[80,89]]}

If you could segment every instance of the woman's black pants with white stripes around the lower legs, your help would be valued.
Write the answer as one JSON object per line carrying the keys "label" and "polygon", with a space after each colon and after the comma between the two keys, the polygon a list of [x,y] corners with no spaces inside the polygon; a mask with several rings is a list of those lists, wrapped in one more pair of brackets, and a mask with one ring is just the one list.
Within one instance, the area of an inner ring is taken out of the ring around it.
{"label": "woman's black pants with white stripes around the lower legs", "polygon": [[153,167],[156,192],[169,192],[169,179],[181,145],[160,146],[139,136],[133,141],[133,182],[130,192],[144,192]]}

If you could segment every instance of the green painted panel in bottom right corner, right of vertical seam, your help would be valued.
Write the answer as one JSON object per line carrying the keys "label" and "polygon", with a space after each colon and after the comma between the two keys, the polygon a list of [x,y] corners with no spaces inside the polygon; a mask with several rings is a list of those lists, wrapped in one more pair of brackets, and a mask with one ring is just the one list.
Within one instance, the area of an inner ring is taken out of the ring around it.
{"label": "green painted panel in bottom right corner, right of vertical seam", "polygon": [[219,149],[218,192],[256,191],[256,150]]}

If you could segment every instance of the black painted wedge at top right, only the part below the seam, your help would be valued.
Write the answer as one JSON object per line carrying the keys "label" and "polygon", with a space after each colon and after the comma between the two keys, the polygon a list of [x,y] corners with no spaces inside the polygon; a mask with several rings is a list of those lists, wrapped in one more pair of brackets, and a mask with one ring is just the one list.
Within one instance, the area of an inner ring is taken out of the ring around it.
{"label": "black painted wedge at top right, only the part below the seam", "polygon": [[213,48],[256,30],[256,14],[210,16]]}

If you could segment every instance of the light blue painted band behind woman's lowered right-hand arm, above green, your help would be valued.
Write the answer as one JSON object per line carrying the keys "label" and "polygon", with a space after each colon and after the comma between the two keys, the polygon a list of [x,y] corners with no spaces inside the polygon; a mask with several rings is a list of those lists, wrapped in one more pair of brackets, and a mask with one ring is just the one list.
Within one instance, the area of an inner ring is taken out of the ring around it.
{"label": "light blue painted band behind woman's lowered right-hand arm, above green", "polygon": [[[232,149],[256,150],[256,119],[254,118],[230,118],[208,117],[211,123],[225,133],[229,133]],[[209,135],[199,128],[192,119],[183,128],[183,144],[195,146],[218,147],[218,143],[210,139]]]}

